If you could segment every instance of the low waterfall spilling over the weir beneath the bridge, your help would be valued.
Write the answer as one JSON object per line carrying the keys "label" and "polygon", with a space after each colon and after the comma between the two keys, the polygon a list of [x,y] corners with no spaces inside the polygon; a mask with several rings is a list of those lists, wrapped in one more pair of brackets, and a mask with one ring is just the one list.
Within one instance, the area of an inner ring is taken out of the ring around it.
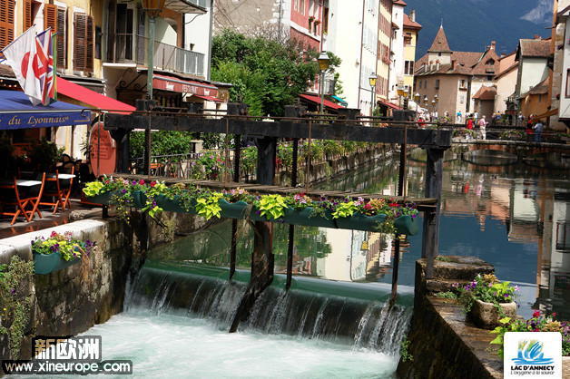
{"label": "low waterfall spilling over the weir beneath the bridge", "polygon": [[[219,272],[206,276],[149,266],[145,265],[127,287],[126,312],[203,318],[221,330],[229,330],[247,283],[243,272],[241,281],[229,282]],[[358,283],[302,280],[318,281],[314,286],[321,289],[344,286],[343,293],[346,287],[355,288],[357,295],[362,293]],[[303,290],[298,282],[293,286],[297,288],[286,292],[282,282],[282,277],[276,276],[274,285],[263,292],[247,321],[241,323],[241,331],[293,335],[399,354],[411,318],[408,306],[390,307],[387,298],[370,300]]]}

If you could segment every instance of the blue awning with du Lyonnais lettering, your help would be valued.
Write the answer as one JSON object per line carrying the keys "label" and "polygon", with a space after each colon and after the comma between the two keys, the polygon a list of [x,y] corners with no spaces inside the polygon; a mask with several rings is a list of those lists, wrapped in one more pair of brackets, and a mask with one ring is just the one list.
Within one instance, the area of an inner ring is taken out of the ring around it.
{"label": "blue awning with du Lyonnais lettering", "polygon": [[0,131],[91,123],[91,112],[68,102],[34,105],[24,92],[0,91]]}

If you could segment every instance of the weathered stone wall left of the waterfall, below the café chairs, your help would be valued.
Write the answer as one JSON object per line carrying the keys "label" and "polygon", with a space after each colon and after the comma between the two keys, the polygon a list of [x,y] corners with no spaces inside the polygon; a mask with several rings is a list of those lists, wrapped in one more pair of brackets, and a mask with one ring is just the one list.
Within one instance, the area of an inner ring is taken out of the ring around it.
{"label": "weathered stone wall left of the waterfall, below the caf\u00e9 chairs", "polygon": [[[134,217],[136,223],[136,216]],[[47,275],[34,275],[28,294],[32,303],[20,359],[29,358],[34,335],[76,335],[104,323],[121,312],[126,279],[139,251],[133,229],[119,219],[84,219],[55,228],[0,240],[0,264],[17,255],[33,260],[31,241],[56,231],[71,231],[75,237],[96,244],[89,258],[88,273],[81,275],[82,262]],[[6,335],[0,335],[0,360],[10,359]]]}

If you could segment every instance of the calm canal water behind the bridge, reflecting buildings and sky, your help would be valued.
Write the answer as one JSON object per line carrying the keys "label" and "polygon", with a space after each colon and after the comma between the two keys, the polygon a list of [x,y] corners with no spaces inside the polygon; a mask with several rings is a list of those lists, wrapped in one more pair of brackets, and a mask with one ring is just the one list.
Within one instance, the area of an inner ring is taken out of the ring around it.
{"label": "calm canal water behind the bridge, reflecting buildings and sky", "polygon": [[[425,164],[408,160],[408,196],[423,197]],[[524,162],[477,166],[445,163],[439,253],[482,258],[497,277],[522,288],[519,314],[553,311],[570,319],[570,183],[565,170]],[[320,186],[394,195],[398,161],[352,172]],[[421,218],[420,218],[421,219]],[[249,267],[252,232],[240,224],[238,267]],[[275,272],[285,273],[288,225],[274,224]],[[414,285],[421,233],[401,244],[398,284]],[[165,259],[229,266],[231,224],[223,222],[153,251]],[[293,272],[342,281],[391,282],[393,237],[364,231],[295,228]]]}

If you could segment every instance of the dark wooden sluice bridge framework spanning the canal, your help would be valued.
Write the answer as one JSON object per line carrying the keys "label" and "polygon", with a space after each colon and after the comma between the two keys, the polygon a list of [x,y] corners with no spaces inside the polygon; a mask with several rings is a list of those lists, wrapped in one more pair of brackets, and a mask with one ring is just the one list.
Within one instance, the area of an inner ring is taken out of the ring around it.
{"label": "dark wooden sluice bridge framework spanning the canal", "polygon": [[[398,199],[405,199],[404,183],[406,175],[406,152],[408,145],[416,145],[427,150],[427,167],[425,197],[426,199],[408,199],[417,201],[419,210],[424,212],[423,238],[422,238],[422,258],[428,258],[426,275],[433,277],[434,260],[437,257],[437,247],[439,239],[439,213],[441,185],[443,176],[443,154],[451,148],[450,130],[424,130],[418,129],[416,122],[404,121],[380,121],[376,118],[356,118],[358,110],[347,110],[339,117],[330,118],[329,115],[307,115],[304,107],[286,107],[286,117],[272,118],[274,121],[260,121],[259,119],[247,116],[247,105],[241,103],[229,103],[228,111],[223,116],[211,116],[204,113],[172,112],[172,110],[162,110],[167,112],[157,112],[160,109],[153,109],[153,102],[138,101],[137,112],[131,115],[107,113],[104,116],[104,128],[111,131],[113,139],[117,142],[117,163],[116,174],[126,176],[129,169],[129,133],[134,129],[144,128],[146,130],[146,170],[150,173],[150,134],[152,130],[166,131],[193,131],[193,132],[216,132],[226,136],[226,160],[229,156],[229,138],[235,135],[236,141],[234,149],[234,178],[233,181],[224,182],[202,182],[201,185],[212,187],[235,188],[243,187],[239,183],[240,172],[240,141],[241,136],[247,135],[255,137],[258,148],[257,161],[257,186],[248,190],[260,192],[286,193],[291,190],[298,191],[297,186],[297,160],[299,140],[312,139],[338,140],[338,141],[365,141],[370,143],[391,143],[400,147],[400,170],[398,180]],[[204,110],[207,112],[207,110]],[[381,122],[381,124],[380,124]],[[378,127],[379,124],[382,127]],[[275,157],[278,139],[291,139],[293,141],[293,171],[291,175],[291,188],[273,187],[275,173]],[[310,145],[309,145],[310,146]],[[310,148],[309,148],[310,150]],[[229,161],[229,160],[228,160]],[[307,176],[308,177],[308,176]],[[150,175],[148,176],[150,178]],[[167,180],[168,181],[168,180]],[[312,191],[315,195],[324,191]],[[327,191],[327,196],[345,197],[344,192],[333,193]],[[381,198],[380,194],[353,194],[365,198]],[[255,229],[254,247],[251,259],[251,281],[241,298],[238,312],[233,320],[231,332],[236,331],[242,319],[249,316],[255,299],[260,293],[270,285],[273,279],[273,254],[271,251],[271,224],[269,222],[255,221],[252,223]],[[231,273],[235,271],[235,238],[237,233],[237,221],[232,224],[231,243]],[[292,250],[293,250],[294,226],[290,226],[289,253],[287,261],[287,288],[290,287],[290,277],[292,271]],[[399,260],[399,238],[396,238],[395,264],[392,281],[392,300],[396,298],[396,287],[398,284],[398,260]],[[147,244],[148,248],[148,237]]]}

